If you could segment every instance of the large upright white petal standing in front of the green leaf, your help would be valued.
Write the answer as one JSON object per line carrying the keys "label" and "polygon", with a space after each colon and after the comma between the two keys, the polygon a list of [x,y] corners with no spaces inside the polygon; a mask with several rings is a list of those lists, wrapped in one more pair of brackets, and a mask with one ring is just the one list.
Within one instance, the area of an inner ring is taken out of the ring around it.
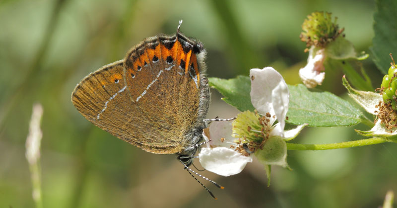
{"label": "large upright white petal standing in front of the green leaf", "polygon": [[[260,114],[275,115],[284,129],[288,111],[289,91],[284,79],[272,67],[251,69],[251,102]],[[270,118],[270,124],[274,119]]]}

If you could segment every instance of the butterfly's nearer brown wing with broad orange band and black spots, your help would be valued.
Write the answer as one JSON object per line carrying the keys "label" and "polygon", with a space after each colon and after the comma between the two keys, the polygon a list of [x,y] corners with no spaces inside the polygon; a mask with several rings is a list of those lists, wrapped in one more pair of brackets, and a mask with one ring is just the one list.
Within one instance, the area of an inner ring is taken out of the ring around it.
{"label": "butterfly's nearer brown wing with broad orange band and black spots", "polygon": [[[144,42],[132,48],[125,58],[127,90],[154,125],[140,129],[145,135],[142,140],[149,144],[147,148],[151,148],[151,152],[156,147],[166,148],[161,153],[180,152],[186,148],[184,135],[197,121],[199,88],[179,69],[181,60],[187,60],[178,56],[183,53],[183,46],[176,36],[161,35]],[[145,62],[147,67],[142,68]],[[136,76],[129,76],[131,73]],[[137,85],[139,87],[135,87]],[[189,99],[184,97],[187,94],[190,94]]]}

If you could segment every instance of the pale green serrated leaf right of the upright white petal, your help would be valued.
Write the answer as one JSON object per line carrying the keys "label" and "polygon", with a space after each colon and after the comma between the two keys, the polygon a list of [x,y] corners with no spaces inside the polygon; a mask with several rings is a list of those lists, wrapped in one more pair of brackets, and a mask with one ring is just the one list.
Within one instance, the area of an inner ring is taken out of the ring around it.
{"label": "pale green serrated leaf right of the upright white petal", "polygon": [[286,122],[309,126],[350,126],[361,122],[362,113],[346,100],[330,92],[307,89],[303,84],[288,85],[289,109]]}

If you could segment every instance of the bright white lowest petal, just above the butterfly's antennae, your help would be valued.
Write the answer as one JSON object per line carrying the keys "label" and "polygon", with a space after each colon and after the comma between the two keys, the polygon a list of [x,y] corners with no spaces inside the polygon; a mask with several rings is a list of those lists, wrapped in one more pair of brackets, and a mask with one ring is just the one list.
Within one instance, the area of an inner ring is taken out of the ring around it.
{"label": "bright white lowest petal, just above the butterfly's antennae", "polygon": [[218,175],[230,176],[240,173],[247,163],[252,162],[252,157],[246,157],[227,148],[201,148],[199,153],[201,166]]}

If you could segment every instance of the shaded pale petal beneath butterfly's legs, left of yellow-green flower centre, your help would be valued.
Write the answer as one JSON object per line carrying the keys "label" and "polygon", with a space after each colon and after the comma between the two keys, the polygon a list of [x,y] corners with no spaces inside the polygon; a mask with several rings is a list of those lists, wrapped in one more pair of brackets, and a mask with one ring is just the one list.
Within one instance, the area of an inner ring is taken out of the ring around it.
{"label": "shaded pale petal beneath butterfly's legs, left of yellow-green flower centre", "polygon": [[[209,135],[204,131],[203,136],[204,139],[207,138],[206,141],[211,140],[207,143],[207,147],[230,147],[230,142],[236,139],[232,137],[232,121],[212,122],[209,126]],[[225,139],[223,142],[222,138]]]}

